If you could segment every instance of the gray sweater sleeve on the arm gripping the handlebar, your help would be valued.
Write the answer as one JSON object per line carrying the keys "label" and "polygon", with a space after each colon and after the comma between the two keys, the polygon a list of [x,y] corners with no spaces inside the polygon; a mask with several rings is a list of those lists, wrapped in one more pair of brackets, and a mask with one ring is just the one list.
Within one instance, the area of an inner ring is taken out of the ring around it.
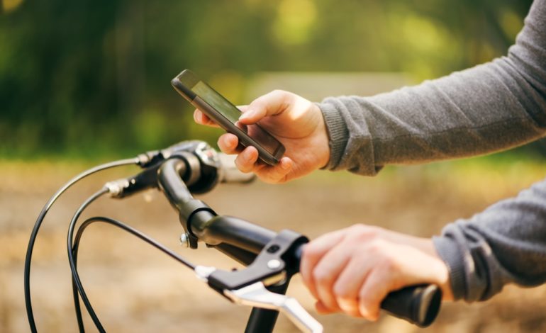
{"label": "gray sweater sleeve on the arm gripping the handlebar", "polygon": [[433,242],[450,269],[455,299],[486,300],[506,283],[545,283],[546,179],[447,225]]}

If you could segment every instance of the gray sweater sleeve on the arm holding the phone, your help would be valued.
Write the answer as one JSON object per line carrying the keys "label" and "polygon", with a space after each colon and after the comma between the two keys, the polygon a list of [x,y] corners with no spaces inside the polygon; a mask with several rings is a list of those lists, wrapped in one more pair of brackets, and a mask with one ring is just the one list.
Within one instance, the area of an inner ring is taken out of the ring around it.
{"label": "gray sweater sleeve on the arm holding the phone", "polygon": [[546,132],[546,0],[535,0],[506,57],[372,97],[319,103],[325,169],[374,175],[386,164],[495,152]]}

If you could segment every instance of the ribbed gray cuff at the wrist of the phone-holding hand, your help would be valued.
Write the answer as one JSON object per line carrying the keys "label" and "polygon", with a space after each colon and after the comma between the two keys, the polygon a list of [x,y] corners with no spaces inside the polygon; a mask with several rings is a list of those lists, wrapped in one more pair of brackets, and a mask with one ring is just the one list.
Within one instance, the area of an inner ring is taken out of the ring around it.
{"label": "ribbed gray cuff at the wrist of the phone-holding hand", "polygon": [[341,113],[331,104],[317,103],[318,108],[323,113],[324,122],[328,130],[328,145],[330,146],[330,161],[323,169],[333,170],[340,164],[347,140],[349,140],[349,130],[345,125]]}

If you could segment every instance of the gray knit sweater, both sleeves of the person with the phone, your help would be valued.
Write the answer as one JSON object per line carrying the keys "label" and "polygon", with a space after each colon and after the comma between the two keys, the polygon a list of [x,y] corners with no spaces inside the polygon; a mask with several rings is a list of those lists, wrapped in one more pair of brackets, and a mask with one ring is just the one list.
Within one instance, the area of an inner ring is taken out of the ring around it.
{"label": "gray knit sweater, both sleeves of the person with the phone", "polygon": [[[413,87],[319,104],[327,169],[374,175],[386,164],[466,157],[546,135],[546,0],[535,0],[508,56]],[[486,300],[506,283],[546,282],[546,180],[433,238],[456,299]]]}

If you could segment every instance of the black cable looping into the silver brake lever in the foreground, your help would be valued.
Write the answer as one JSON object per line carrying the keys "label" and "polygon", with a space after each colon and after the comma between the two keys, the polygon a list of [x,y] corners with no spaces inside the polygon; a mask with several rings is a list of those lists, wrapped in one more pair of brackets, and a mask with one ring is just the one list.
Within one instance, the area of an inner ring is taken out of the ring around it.
{"label": "black cable looping into the silver brake lever in the foreground", "polygon": [[[99,193],[97,193],[97,194],[99,194]],[[97,198],[98,198],[98,196],[97,196]],[[89,201],[89,203],[91,203],[91,201]],[[76,221],[74,220],[74,225],[75,225],[75,222]],[[89,309],[91,309],[91,310],[93,309],[93,307],[89,303],[89,299],[87,298],[87,294],[85,293],[84,287],[82,285],[82,281],[80,281],[79,273],[77,272],[77,258],[78,258],[79,242],[82,239],[82,235],[84,233],[84,230],[94,222],[105,222],[105,223],[108,223],[110,225],[114,225],[116,227],[119,227],[119,228],[121,228],[121,230],[129,232],[130,234],[142,239],[143,241],[145,241],[148,244],[152,245],[153,247],[159,249],[160,251],[164,252],[168,256],[170,256],[173,259],[179,261],[180,263],[184,264],[185,266],[189,267],[190,269],[195,269],[195,265],[191,264],[189,261],[184,259],[182,256],[179,256],[178,254],[173,252],[171,249],[168,249],[167,247],[165,247],[165,245],[161,244],[160,242],[157,242],[155,239],[152,239],[151,237],[148,237],[147,235],[143,234],[143,232],[140,232],[140,231],[134,229],[133,227],[130,227],[129,225],[124,224],[123,222],[120,222],[118,220],[114,220],[112,218],[104,218],[104,217],[101,217],[101,216],[94,217],[94,218],[89,218],[89,219],[85,220],[82,223],[82,225],[79,226],[79,228],[78,228],[78,230],[76,232],[76,237],[74,238],[74,245],[72,246],[72,252],[69,252],[69,253],[72,254],[72,255],[69,254],[69,261],[70,261],[70,268],[72,269],[72,293],[74,295],[74,308],[76,309],[76,315],[79,318],[78,321],[82,320],[82,312],[81,312],[81,309],[79,307],[78,293],[80,295],[82,295],[82,301],[86,304],[87,310],[89,311]],[[72,223],[71,223],[71,225],[72,225]],[[73,229],[72,229],[72,231],[73,231]],[[70,237],[70,235],[69,235],[69,237]],[[69,239],[72,239],[72,237],[70,237]],[[89,313],[91,313],[91,312],[89,312]],[[94,311],[93,311],[93,313],[94,313]],[[98,318],[97,318],[97,320],[98,320]],[[99,324],[100,324],[100,322],[99,322]],[[99,329],[99,331],[101,331],[101,329],[104,330],[104,328],[102,326],[100,328],[97,326],[97,328]],[[101,332],[104,332],[104,331],[101,331]]]}

